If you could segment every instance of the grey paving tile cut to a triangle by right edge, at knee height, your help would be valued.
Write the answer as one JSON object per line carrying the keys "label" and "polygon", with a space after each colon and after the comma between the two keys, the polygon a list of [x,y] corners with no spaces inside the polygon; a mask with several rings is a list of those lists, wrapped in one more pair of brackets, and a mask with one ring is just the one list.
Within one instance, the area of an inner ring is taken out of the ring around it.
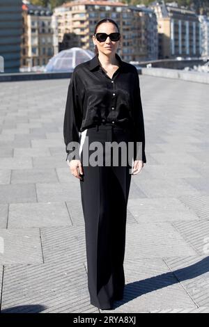
{"label": "grey paving tile cut to a triangle by right edge, at knee height", "polygon": [[178,199],[196,216],[209,220],[209,196],[180,196]]}

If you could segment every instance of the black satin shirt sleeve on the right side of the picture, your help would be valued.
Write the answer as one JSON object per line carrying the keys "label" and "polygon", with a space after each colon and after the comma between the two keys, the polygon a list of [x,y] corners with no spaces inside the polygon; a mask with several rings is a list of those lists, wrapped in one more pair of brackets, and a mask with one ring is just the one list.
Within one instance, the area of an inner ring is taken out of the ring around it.
{"label": "black satin shirt sleeve on the right side of the picture", "polygon": [[134,79],[134,160],[142,160],[146,163],[144,115],[137,70]]}

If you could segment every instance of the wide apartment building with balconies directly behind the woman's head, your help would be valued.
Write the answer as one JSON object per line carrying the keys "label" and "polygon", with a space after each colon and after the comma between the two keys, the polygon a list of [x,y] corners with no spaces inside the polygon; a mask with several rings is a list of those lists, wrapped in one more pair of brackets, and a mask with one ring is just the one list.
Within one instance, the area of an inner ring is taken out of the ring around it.
{"label": "wide apartment building with balconies directly behind the woman's head", "polygon": [[82,47],[93,51],[95,24],[111,18],[118,24],[122,40],[118,54],[125,61],[157,58],[157,18],[154,10],[111,0],[75,0],[54,10],[58,50]]}

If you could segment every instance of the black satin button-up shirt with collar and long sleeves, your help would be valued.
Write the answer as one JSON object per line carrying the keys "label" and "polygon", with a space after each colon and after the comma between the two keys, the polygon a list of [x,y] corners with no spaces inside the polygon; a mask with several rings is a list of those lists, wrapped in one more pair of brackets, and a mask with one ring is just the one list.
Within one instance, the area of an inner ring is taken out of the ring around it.
{"label": "black satin button-up shirt with collar and long sleeves", "polygon": [[[121,60],[112,78],[95,55],[72,72],[63,122],[65,150],[68,143],[79,143],[79,131],[100,124],[130,126],[133,141],[142,144],[141,159],[146,163],[144,116],[137,68]],[[66,160],[70,156],[67,156]],[[80,159],[76,155],[72,159]]]}

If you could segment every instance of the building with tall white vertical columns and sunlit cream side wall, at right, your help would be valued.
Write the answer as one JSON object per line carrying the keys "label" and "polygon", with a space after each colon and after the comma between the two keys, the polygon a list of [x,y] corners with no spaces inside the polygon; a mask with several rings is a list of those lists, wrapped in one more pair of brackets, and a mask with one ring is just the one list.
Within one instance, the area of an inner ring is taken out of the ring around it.
{"label": "building with tall white vertical columns and sunlit cream side wall, at right", "polygon": [[155,1],[150,8],[157,15],[159,33],[159,58],[201,55],[201,24],[192,10],[178,7],[178,3]]}

